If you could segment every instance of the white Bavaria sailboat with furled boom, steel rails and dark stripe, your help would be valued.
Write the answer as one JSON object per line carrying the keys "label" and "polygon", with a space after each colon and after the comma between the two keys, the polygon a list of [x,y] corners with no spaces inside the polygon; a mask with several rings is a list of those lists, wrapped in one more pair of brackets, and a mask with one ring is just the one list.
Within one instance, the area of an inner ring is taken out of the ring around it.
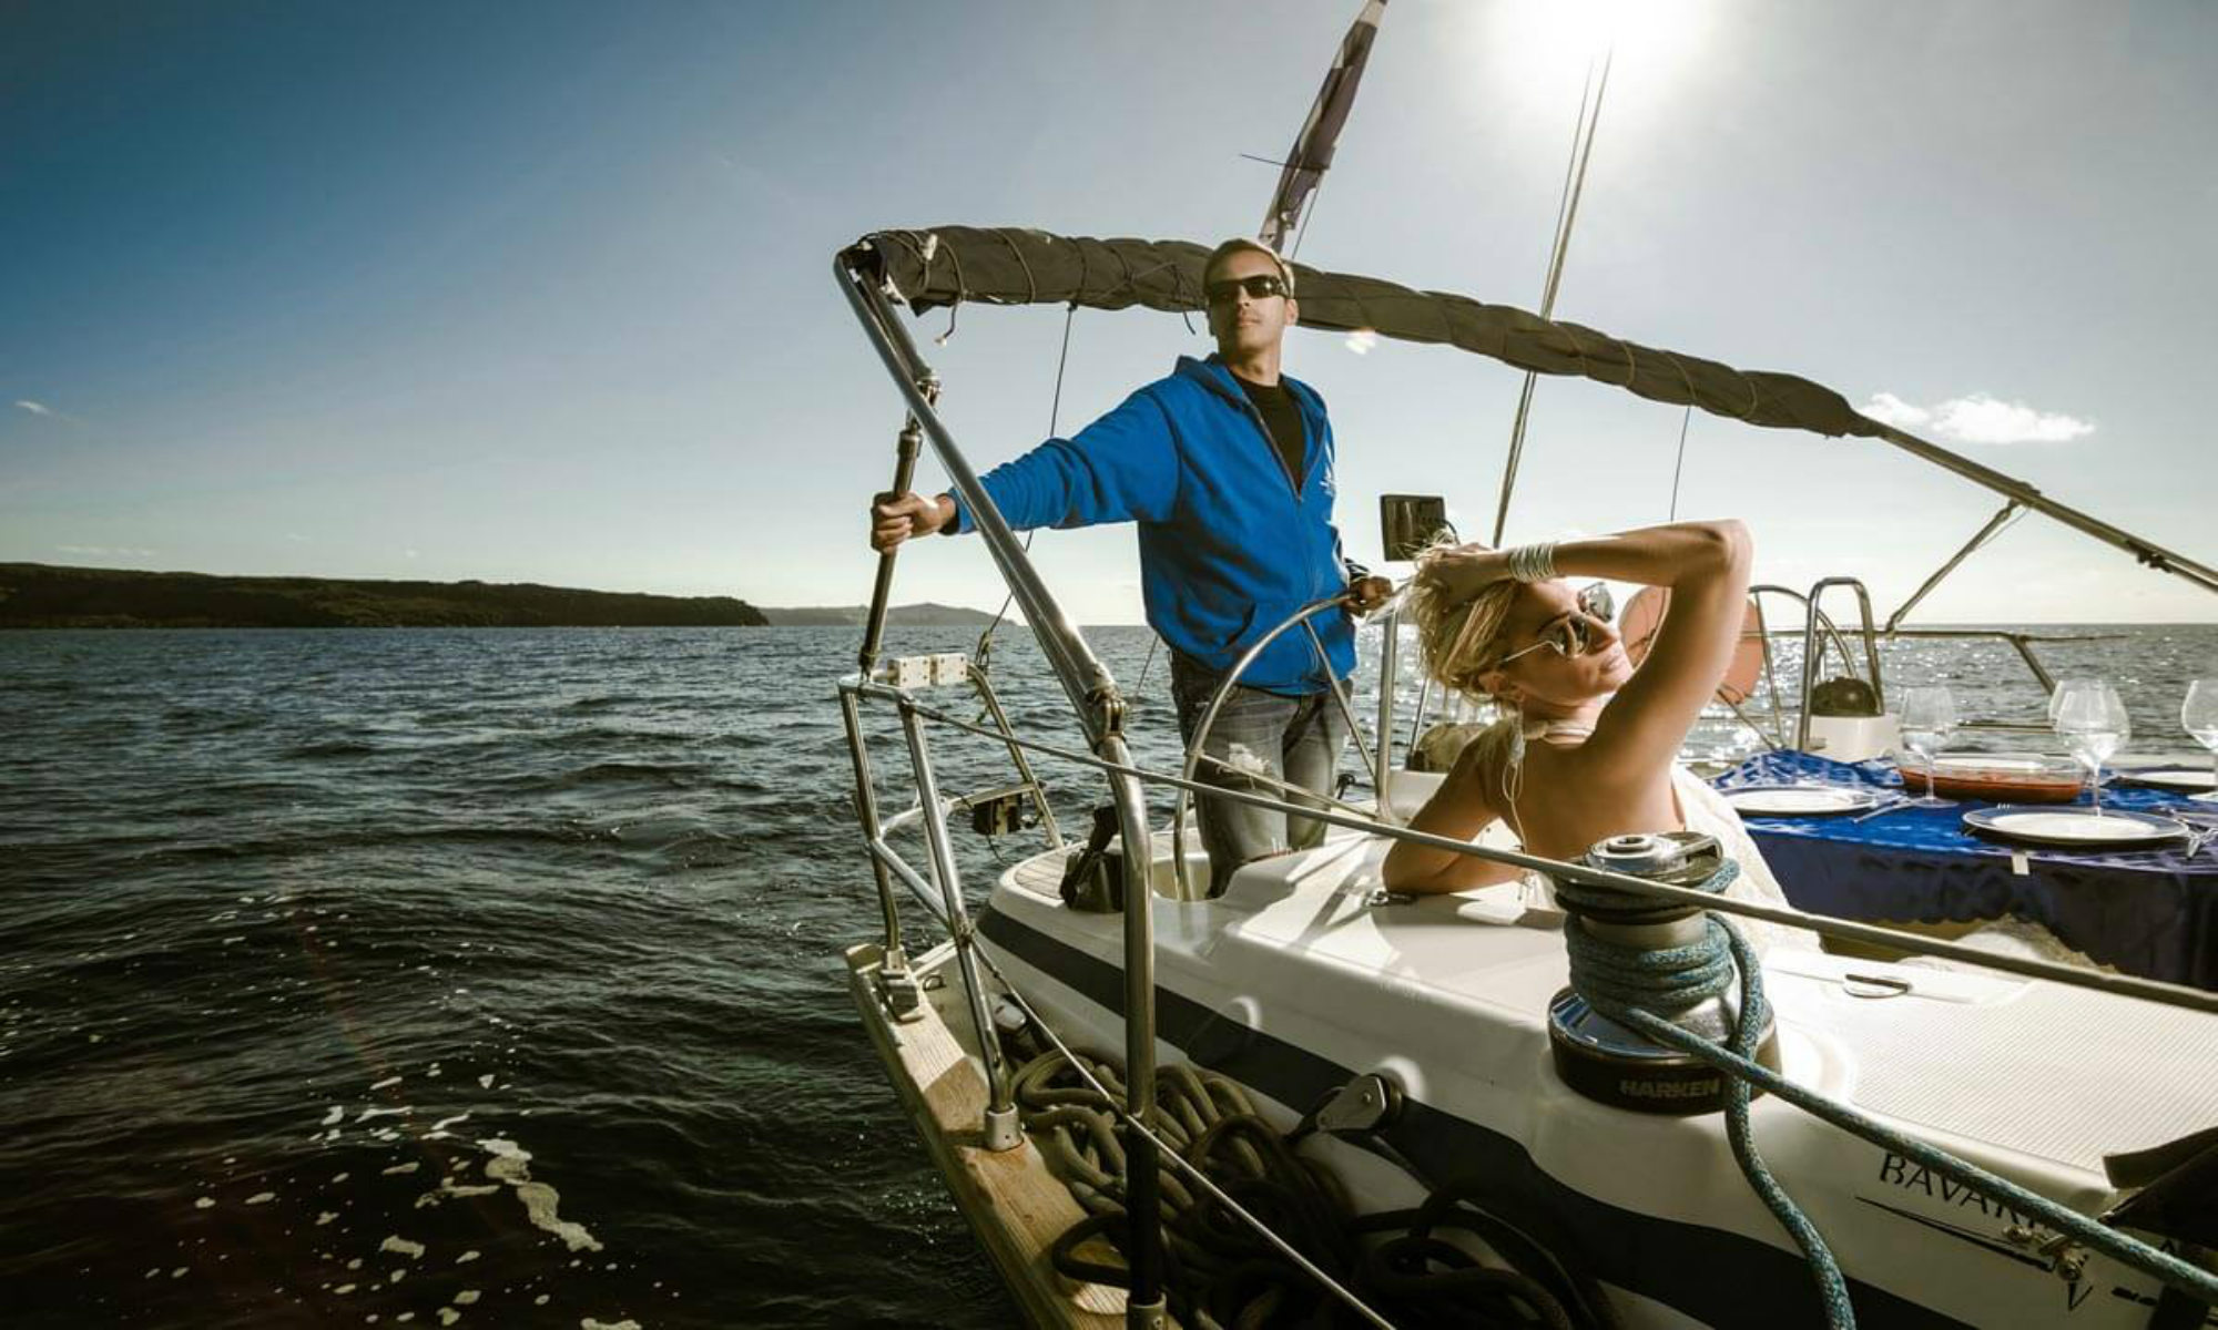
{"label": "white Bavaria sailboat with furled boom, steel rails and dark stripe", "polygon": [[[1357,29],[1369,31],[1344,42],[1311,124],[1344,117],[1333,89],[1353,95],[1360,60],[1351,69],[1346,55],[1366,49],[1377,11],[1377,0],[1366,4]],[[1315,155],[1298,144],[1282,184],[1300,188],[1304,162]],[[1278,235],[1300,211],[1282,200],[1266,219]],[[1264,1232],[1320,1292],[1300,1306],[1284,1292],[1240,1303],[1255,1323],[1295,1310],[1315,1317],[1306,1323],[1380,1326],[2218,1323],[2214,993],[1719,900],[1692,887],[1706,869],[1668,838],[1610,842],[1579,862],[1502,842],[1457,847],[1566,891],[1615,891],[1666,933],[1717,911],[1978,966],[1772,947],[1761,960],[1739,955],[1715,1037],[1630,1015],[1588,1020],[1566,953],[1577,922],[1564,909],[1517,884],[1431,900],[1382,889],[1386,847],[1417,836],[1397,809],[1437,780],[1391,769],[1391,676],[1380,687],[1375,807],[1320,814],[1333,827],[1322,847],[1244,864],[1222,896],[1196,891],[1207,882],[1198,845],[1151,827],[1142,796],[1142,782],[1191,791],[1191,771],[1136,767],[1122,692],[978,485],[901,310],[1196,310],[1204,255],[1187,242],[932,226],[872,233],[834,264],[903,395],[894,488],[907,488],[929,443],[1087,736],[1078,751],[1020,734],[963,656],[887,658],[892,556],[881,561],[858,667],[841,681],[883,922],[847,953],[852,989],[1027,1317],[1227,1323],[1220,1303],[1171,1288],[1180,1257],[1164,1252],[1156,1217],[1176,1190],[1200,1197],[1211,1224],[1260,1221],[1198,1159],[1220,1144],[1222,1122],[1258,1117],[1298,1142],[1300,1164],[1280,1173],[1329,1177],[1326,1190],[1357,1217],[1417,1215],[1424,1237],[1417,1257],[1400,1246],[1373,1259],[1386,1246],[1373,1235],[1349,1239],[1333,1261],[1331,1241]],[[2207,565],[1872,421],[1810,379],[1353,273],[1300,268],[1300,288],[1304,326],[1448,344],[1757,426],[1883,441],[2218,590]],[[1298,630],[1300,614],[1271,632]],[[947,692],[965,705],[940,700]],[[983,718],[967,707],[971,694]],[[865,707],[898,714],[916,785],[901,811],[881,814]],[[932,729],[1003,743],[1011,782],[945,796]],[[1087,847],[1054,825],[1036,756],[1107,782],[1100,836]],[[949,833],[958,807],[980,829],[1016,827],[1031,807],[1049,840],[998,876],[976,920]],[[923,864],[896,849],[905,829],[923,833]],[[909,953],[903,893],[947,942]],[[1763,1009],[1768,1033],[1754,1029]],[[1071,1199],[1069,1159],[1058,1170],[1045,1157],[1065,1153],[1069,1130],[1049,1119],[1067,1099],[1034,1095],[1025,1077],[1040,1062],[1020,1068],[1016,1053],[1027,1040],[1051,1046],[1047,1062],[1062,1057],[1107,1108],[1093,1135],[1113,1126],[1116,1168],[1078,1181],[1078,1195],[1107,1197],[1107,1210]],[[1113,1071],[1100,1048],[1122,1051]],[[1761,1097],[1750,1099],[1750,1086]],[[1027,1113],[1040,1102],[1045,1117]],[[1211,1113],[1218,1126],[1204,1126]],[[1761,1164],[1750,1166],[1757,1146]],[[1102,1224],[1105,1213],[1122,1219]],[[1357,1221],[1353,1232],[1366,1230]],[[1113,1239],[1113,1257],[1074,1259],[1093,1239]],[[1388,1306],[1397,1277],[1433,1279],[1435,1295]]]}

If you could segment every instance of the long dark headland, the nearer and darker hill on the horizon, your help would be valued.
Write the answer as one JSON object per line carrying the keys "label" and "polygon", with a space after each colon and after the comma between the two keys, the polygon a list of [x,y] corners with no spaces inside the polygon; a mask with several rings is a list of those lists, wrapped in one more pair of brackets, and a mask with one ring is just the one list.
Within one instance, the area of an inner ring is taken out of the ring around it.
{"label": "long dark headland, the nearer and darker hill on the horizon", "polygon": [[0,627],[754,627],[732,596],[0,563]]}

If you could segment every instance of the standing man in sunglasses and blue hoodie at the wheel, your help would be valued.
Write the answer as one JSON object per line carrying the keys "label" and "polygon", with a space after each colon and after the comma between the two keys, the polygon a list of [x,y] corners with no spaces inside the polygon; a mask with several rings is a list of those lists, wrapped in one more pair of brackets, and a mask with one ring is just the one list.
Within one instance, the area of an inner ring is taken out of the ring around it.
{"label": "standing man in sunglasses and blue hoodie at the wheel", "polygon": [[[1178,368],[1071,439],[1049,439],[980,477],[1014,530],[1131,521],[1140,528],[1147,623],[1171,647],[1178,732],[1193,743],[1209,698],[1233,663],[1295,610],[1353,592],[1364,612],[1386,579],[1351,570],[1333,528],[1333,426],[1306,383],[1280,375],[1280,344],[1300,317],[1293,268],[1251,239],[1227,239],[1202,264],[1218,355]],[[976,530],[954,494],[881,494],[874,550],[909,536]],[[1286,632],[1249,667],[1218,709],[1200,776],[1227,789],[1284,794],[1278,782],[1331,794],[1346,745],[1355,674],[1349,612],[1311,621],[1324,643]],[[1260,778],[1260,780],[1255,780]],[[1324,836],[1233,800],[1198,805],[1211,891],[1240,864],[1304,849]]]}

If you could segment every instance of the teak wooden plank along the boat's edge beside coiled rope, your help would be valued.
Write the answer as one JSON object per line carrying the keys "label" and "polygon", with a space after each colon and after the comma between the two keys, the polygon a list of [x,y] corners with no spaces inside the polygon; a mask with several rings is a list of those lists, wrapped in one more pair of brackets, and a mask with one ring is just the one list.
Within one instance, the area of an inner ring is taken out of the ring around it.
{"label": "teak wooden plank along the boat's edge beside coiled rope", "polygon": [[925,995],[918,1020],[896,1024],[878,1004],[878,947],[867,942],[847,949],[847,989],[916,1135],[932,1150],[956,1208],[994,1257],[1011,1297],[1034,1326],[1125,1326],[1122,1288],[1078,1283],[1056,1272],[1047,1259],[1049,1246],[1085,1219],[1071,1193],[1049,1173],[1047,1159],[1029,1139],[998,1153],[980,1144],[987,1086],[971,1062],[974,1037],[963,1013],[960,978],[949,973],[940,991]]}

